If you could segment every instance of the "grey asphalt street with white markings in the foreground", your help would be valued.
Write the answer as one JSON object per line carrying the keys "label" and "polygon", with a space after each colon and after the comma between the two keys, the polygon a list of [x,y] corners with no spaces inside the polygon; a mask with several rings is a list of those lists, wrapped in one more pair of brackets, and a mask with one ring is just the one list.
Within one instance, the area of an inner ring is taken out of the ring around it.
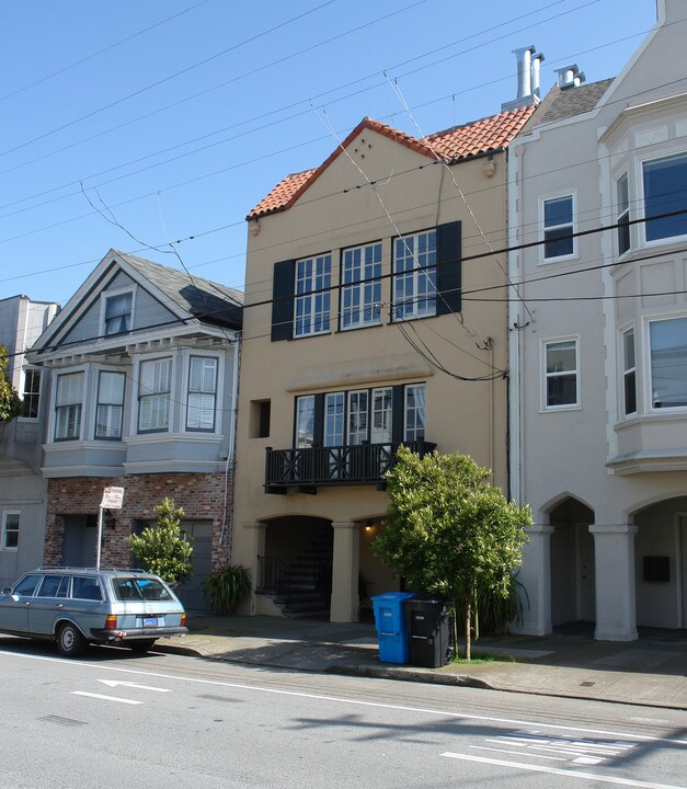
{"label": "grey asphalt street with white markings in the foreground", "polygon": [[2,789],[687,789],[686,716],[0,639]]}

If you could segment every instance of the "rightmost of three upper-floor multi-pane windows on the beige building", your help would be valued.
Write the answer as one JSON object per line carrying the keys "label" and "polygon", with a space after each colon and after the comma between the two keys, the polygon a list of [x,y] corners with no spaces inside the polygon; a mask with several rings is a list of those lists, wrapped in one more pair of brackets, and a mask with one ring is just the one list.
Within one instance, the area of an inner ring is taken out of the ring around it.
{"label": "rightmost of three upper-floor multi-pane windows on the beige building", "polygon": [[393,242],[393,318],[436,315],[436,230]]}

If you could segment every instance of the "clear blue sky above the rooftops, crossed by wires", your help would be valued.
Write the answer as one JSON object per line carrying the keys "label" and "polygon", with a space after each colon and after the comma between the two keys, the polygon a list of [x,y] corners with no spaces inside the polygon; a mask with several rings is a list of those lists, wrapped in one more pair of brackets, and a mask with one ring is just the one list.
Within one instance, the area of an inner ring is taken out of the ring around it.
{"label": "clear blue sky above the rooftops, crossed by wires", "polygon": [[113,247],[179,268],[176,241],[192,274],[242,287],[245,215],[331,153],[325,124],[420,135],[494,114],[528,45],[542,91],[571,62],[612,77],[655,15],[655,0],[4,3],[0,298],[64,305]]}

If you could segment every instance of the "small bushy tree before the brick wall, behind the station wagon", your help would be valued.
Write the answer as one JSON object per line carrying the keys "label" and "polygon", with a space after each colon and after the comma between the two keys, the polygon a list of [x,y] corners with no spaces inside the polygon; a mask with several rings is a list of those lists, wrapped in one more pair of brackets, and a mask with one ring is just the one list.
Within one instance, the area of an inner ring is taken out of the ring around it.
{"label": "small bushy tree before the brick wall, behind the station wagon", "polygon": [[183,583],[193,572],[193,542],[180,527],[184,511],[175,508],[172,499],[164,499],[154,513],[156,526],[147,526],[139,535],[129,537],[131,552],[147,572],[171,584]]}

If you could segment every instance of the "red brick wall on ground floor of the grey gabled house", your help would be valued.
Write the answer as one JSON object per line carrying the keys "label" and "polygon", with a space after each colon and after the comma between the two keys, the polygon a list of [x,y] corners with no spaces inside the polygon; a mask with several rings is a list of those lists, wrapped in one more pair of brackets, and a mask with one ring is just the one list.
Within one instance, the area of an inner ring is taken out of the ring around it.
{"label": "red brick wall on ground floor of the grey gabled house", "polygon": [[225,521],[225,473],[160,473],[124,478],[70,477],[48,480],[48,504],[45,527],[45,564],[64,563],[65,515],[98,516],[103,490],[110,485],[124,488],[122,510],[113,510],[116,526],[103,528],[101,563],[128,567],[130,550],[127,538],[137,521],[156,521],[154,507],[163,499],[172,499],[182,507],[185,521],[213,523],[213,570],[230,562],[231,551],[231,474],[228,480]]}

